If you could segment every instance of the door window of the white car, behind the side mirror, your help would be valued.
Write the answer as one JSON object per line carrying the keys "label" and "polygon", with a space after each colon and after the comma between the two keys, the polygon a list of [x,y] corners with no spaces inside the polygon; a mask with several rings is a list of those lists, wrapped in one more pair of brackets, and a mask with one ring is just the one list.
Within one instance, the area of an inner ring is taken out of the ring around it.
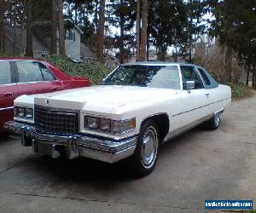
{"label": "door window of the white car, behind the side mirror", "polygon": [[187,81],[195,81],[195,89],[204,88],[201,78],[197,74],[194,66],[180,66],[182,76],[183,76],[183,89],[186,88]]}

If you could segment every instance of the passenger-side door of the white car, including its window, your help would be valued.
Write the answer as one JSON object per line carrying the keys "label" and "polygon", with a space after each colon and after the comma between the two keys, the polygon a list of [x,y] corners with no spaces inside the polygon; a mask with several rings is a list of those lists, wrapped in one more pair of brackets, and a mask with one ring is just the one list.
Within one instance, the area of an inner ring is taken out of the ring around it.
{"label": "passenger-side door of the white car, including its window", "polygon": [[[182,107],[177,113],[181,126],[193,124],[208,114],[207,90],[195,66],[180,66],[183,89],[178,91]],[[195,89],[186,89],[187,81],[195,81]]]}

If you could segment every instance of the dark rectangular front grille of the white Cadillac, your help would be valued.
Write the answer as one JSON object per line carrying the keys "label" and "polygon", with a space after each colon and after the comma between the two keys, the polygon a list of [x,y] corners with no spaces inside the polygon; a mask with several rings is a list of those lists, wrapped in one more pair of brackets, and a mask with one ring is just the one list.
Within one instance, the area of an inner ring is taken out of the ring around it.
{"label": "dark rectangular front grille of the white Cadillac", "polygon": [[61,112],[36,106],[34,113],[37,131],[55,134],[78,132],[78,112]]}

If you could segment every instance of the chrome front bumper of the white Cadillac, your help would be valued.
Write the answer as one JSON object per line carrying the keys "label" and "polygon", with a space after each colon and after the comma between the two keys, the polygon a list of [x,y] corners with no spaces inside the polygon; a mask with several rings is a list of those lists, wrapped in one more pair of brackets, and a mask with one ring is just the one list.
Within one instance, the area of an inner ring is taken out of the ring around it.
{"label": "chrome front bumper of the white Cadillac", "polygon": [[32,146],[34,153],[44,153],[52,158],[66,155],[73,159],[93,158],[103,162],[115,163],[131,156],[137,145],[137,136],[120,141],[98,138],[91,135],[49,135],[38,133],[30,124],[10,121],[3,128],[21,135],[23,147]]}

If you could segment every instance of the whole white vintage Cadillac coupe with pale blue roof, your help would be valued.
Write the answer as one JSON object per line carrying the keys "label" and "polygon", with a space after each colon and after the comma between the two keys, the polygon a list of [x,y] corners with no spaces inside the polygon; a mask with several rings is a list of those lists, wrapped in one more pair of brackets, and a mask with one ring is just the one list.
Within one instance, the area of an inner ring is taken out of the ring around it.
{"label": "whole white vintage Cadillac coupe with pale blue roof", "polygon": [[5,128],[20,132],[35,153],[108,163],[129,157],[135,174],[145,176],[160,143],[202,123],[217,130],[230,101],[230,87],[201,66],[137,62],[119,66],[99,86],[20,96]]}

